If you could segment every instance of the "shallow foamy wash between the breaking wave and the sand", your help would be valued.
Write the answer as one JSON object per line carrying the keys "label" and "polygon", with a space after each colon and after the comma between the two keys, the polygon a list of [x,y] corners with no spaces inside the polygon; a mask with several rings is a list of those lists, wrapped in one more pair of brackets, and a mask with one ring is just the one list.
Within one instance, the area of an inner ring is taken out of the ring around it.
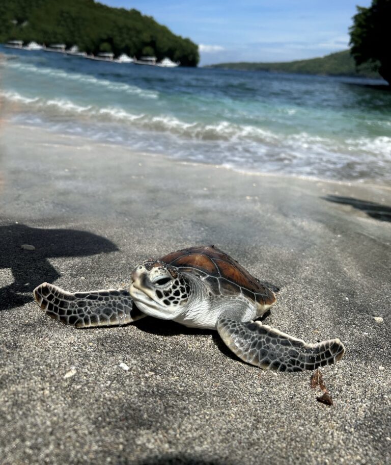
{"label": "shallow foamy wash between the breaking wave and the sand", "polygon": [[[235,171],[248,173],[268,172],[302,178],[352,180],[371,182],[374,179],[389,179],[390,162],[374,153],[365,157],[355,151],[347,154],[328,151],[320,145],[304,152],[300,147],[271,148],[266,144],[253,142],[227,142],[185,140],[169,133],[148,133],[133,126],[129,131],[124,125],[85,121],[58,121],[37,119],[34,114],[19,113],[12,117],[12,123],[26,127],[44,128],[60,137],[82,136],[99,144],[123,145],[146,156],[161,154],[164,157],[188,163],[212,164]],[[371,170],[368,170],[368,165]]]}

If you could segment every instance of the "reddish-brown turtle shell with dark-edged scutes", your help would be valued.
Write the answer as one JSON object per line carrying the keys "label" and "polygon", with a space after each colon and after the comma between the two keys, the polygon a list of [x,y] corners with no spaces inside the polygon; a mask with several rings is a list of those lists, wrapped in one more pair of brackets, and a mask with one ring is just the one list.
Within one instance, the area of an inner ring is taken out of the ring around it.
{"label": "reddish-brown turtle shell with dark-edged scutes", "polygon": [[265,283],[260,282],[236,260],[214,245],[178,250],[164,255],[159,261],[182,271],[199,271],[215,295],[242,294],[258,304],[259,309],[265,305],[272,305],[276,300],[274,292]]}

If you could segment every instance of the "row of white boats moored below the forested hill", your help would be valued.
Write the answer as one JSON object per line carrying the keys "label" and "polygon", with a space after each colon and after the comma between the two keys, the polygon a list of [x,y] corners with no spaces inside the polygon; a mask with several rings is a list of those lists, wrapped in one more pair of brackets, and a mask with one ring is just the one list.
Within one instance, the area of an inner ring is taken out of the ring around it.
{"label": "row of white boats moored below the forested hill", "polygon": [[74,57],[87,58],[89,60],[108,61],[113,63],[133,63],[135,65],[159,66],[161,68],[176,68],[180,65],[179,62],[174,62],[170,60],[170,58],[163,58],[163,60],[157,61],[156,57],[141,57],[137,60],[135,57],[131,58],[126,54],[121,54],[119,57],[115,58],[114,54],[111,52],[88,55],[85,51],[80,51],[77,45],[73,45],[73,47],[67,49],[65,44],[51,44],[46,47],[37,42],[30,42],[27,45],[23,45],[22,40],[10,40],[5,46],[7,48],[18,48],[22,50],[52,51]]}

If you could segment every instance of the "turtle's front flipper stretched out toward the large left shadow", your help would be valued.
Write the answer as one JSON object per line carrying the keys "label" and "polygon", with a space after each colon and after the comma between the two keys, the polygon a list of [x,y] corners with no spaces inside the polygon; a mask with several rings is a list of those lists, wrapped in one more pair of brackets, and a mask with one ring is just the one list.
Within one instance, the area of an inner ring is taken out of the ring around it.
{"label": "turtle's front flipper stretched out toward the large left shadow", "polygon": [[49,317],[76,328],[125,325],[146,316],[125,289],[71,294],[44,282],[34,289],[34,297]]}

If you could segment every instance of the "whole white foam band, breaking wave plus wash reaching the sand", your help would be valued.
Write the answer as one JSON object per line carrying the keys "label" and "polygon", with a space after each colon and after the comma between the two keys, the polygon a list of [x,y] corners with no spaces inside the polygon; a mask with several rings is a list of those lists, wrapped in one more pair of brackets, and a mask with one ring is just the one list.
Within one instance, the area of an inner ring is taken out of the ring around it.
{"label": "whole white foam band, breaking wave plus wash reaching the sand", "polygon": [[[371,166],[368,176],[389,177],[385,173],[391,161],[388,136],[343,139],[305,131],[284,134],[255,124],[185,121],[173,115],[131,112],[128,107],[102,108],[76,98],[45,99],[15,91],[3,91],[0,96],[18,102],[19,121],[23,121],[25,109],[24,121],[30,124],[167,153],[177,159],[331,178],[344,178],[344,173],[360,178]],[[61,119],[53,118],[57,113]]]}

